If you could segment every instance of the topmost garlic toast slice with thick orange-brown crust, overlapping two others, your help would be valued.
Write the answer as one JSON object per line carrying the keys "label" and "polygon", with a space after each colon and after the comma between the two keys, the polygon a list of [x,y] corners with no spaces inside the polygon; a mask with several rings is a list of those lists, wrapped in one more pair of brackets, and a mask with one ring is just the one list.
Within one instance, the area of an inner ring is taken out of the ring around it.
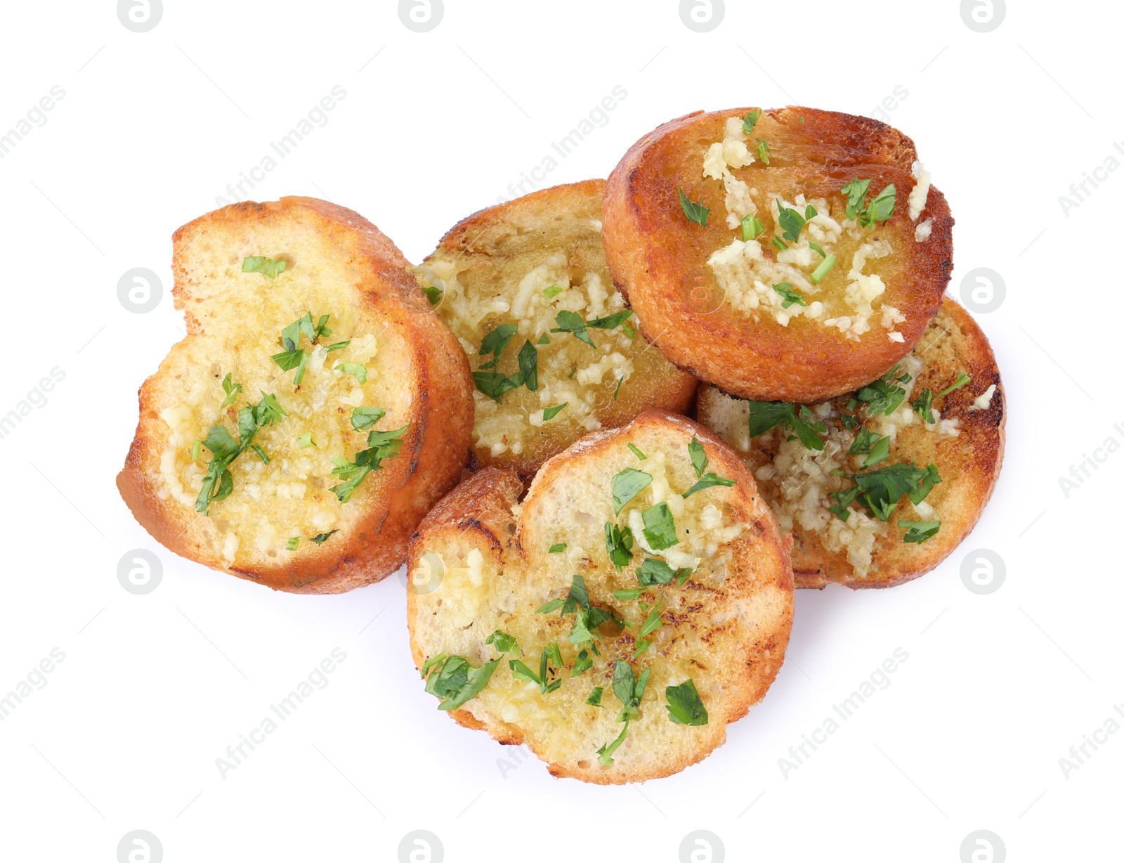
{"label": "topmost garlic toast slice with thick orange-brown crust, overlapping two others", "polygon": [[747,399],[870,381],[916,345],[952,267],[949,206],[913,142],[812,108],[664,124],[609,175],[604,219],[643,333]]}

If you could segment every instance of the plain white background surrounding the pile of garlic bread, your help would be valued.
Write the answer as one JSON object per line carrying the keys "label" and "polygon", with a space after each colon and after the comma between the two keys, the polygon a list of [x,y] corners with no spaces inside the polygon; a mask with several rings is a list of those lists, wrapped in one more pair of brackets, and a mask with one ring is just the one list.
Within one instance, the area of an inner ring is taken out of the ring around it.
{"label": "plain white background surrounding the pile of garlic bread", "polygon": [[[1124,734],[1068,778],[1059,758],[1124,702],[1124,455],[1068,497],[1059,478],[1124,442],[1124,172],[1068,215],[1059,196],[1124,140],[1124,21],[1108,3],[1010,6],[980,34],[952,0],[727,2],[700,34],[673,0],[446,0],[419,34],[395,2],[165,0],[148,33],[110,0],[6,3],[0,134],[53,85],[65,97],[0,160],[0,414],[52,367],[65,378],[0,440],[0,694],[53,648],[65,660],[0,723],[2,856],[114,861],[145,829],[169,863],[395,861],[420,828],[448,861],[673,863],[707,829],[731,861],[954,863],[988,829],[1010,861],[1107,859]],[[979,316],[1008,421],[975,533],[910,584],[800,592],[788,661],[727,743],[619,788],[554,780],[439,714],[409,658],[398,576],[287,596],[158,546],[114,478],[137,387],[182,334],[170,236],[230,200],[227,184],[337,84],[327,125],[252,197],[328,198],[414,261],[510,194],[617,84],[627,97],[544,184],[606,176],[642,134],[695,109],[869,115],[907,91],[888,115],[957,219],[950,294],[976,267],[1006,283]],[[148,314],[118,301],[133,267],[163,283]],[[146,596],[117,579],[134,548],[163,564]],[[988,596],[961,579],[977,548],[1006,564]],[[335,647],[346,661],[328,685],[221,778],[216,758]],[[890,684],[786,778],[778,758],[898,647],[908,660]]]}

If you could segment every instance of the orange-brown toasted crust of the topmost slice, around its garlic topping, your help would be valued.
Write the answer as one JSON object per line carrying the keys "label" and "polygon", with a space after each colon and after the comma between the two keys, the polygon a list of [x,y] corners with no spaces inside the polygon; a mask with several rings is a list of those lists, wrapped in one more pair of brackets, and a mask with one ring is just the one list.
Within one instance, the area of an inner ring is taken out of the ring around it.
{"label": "orange-brown toasted crust of the topmost slice, around its garlic topping", "polygon": [[[931,188],[918,220],[908,218],[906,199],[917,182],[910,175],[917,154],[913,142],[896,129],[810,108],[764,111],[754,131],[772,147],[770,164],[759,160],[734,172],[750,187],[787,198],[803,193],[837,199],[855,176],[872,181],[871,194],[895,184],[895,215],[879,222],[870,237],[889,239],[895,248],[879,262],[887,284],[882,301],[906,320],[896,326],[904,337],[898,343],[877,326],[856,342],[805,317],[787,327],[768,317],[746,317],[725,302],[707,266],[709,256],[735,234],[723,218],[723,184],[703,176],[703,158],[707,146],[723,139],[726,118],[747,112],[740,108],[688,115],[632,146],[606,187],[606,257],[645,336],[679,367],[741,398],[821,401],[872,380],[922,337],[949,281],[952,217],[944,196]],[[710,209],[706,227],[685,217],[680,187],[690,200]],[[932,234],[918,243],[914,230],[926,219],[932,219]],[[771,256],[771,247],[764,254]],[[846,266],[841,262],[835,270],[846,273]]]}

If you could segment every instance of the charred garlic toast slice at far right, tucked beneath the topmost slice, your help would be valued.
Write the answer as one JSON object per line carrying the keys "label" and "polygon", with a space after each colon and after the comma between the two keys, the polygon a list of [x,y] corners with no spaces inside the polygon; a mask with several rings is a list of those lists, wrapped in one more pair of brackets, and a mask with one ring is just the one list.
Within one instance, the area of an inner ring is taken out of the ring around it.
{"label": "charred garlic toast slice at far right, tucked beneath the topmost slice", "polygon": [[[751,410],[767,425],[786,407],[751,405],[714,387],[699,391],[699,421],[742,454],[791,533],[798,588],[888,588],[928,572],[968,536],[1003,463],[1006,397],[995,355],[976,321],[948,299],[914,352],[870,387],[808,406],[804,424],[782,420],[752,438]],[[808,448],[801,436],[823,448]],[[921,474],[931,465],[940,482],[922,497],[930,483]],[[849,501],[851,476],[865,478],[873,508],[862,497]]]}

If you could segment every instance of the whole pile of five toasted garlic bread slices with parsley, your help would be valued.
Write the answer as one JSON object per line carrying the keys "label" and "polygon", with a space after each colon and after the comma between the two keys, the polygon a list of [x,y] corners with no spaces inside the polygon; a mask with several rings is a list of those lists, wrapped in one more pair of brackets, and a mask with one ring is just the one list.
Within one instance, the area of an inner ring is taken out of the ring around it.
{"label": "whole pile of five toasted garlic bread slices with parsley", "polygon": [[987,503],[952,224],[909,138],[797,107],[672,120],[417,265],[325,201],[233,205],[174,235],[188,335],[118,488],[277,590],[405,563],[419,698],[555,775],[664,776],[764,697],[795,588],[914,579]]}

